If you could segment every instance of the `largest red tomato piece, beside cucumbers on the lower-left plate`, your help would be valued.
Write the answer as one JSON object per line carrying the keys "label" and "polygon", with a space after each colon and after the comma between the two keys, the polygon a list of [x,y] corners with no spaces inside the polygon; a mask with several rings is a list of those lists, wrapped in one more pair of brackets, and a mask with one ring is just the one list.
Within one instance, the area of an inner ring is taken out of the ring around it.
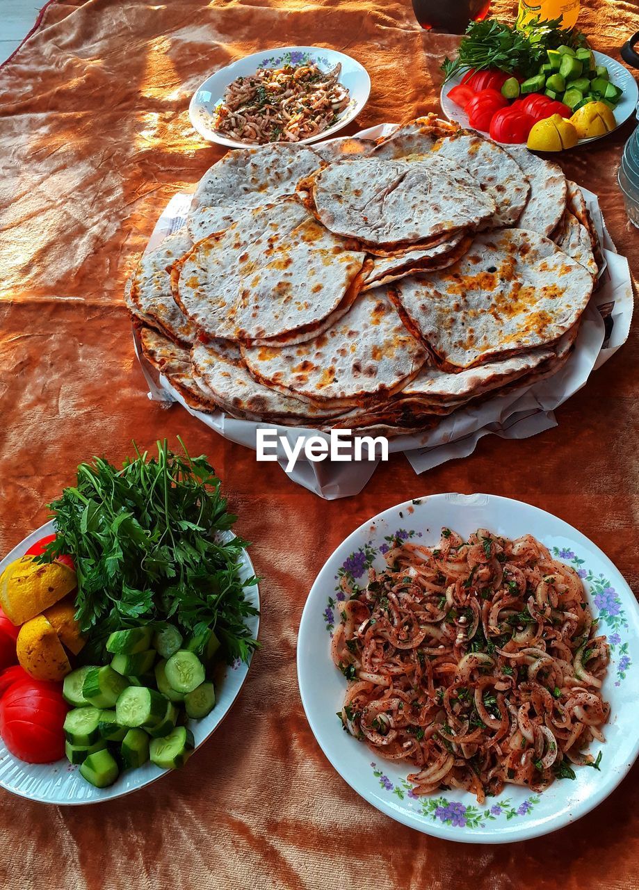
{"label": "largest red tomato piece, beside cucumbers on the lower-left plate", "polygon": [[59,684],[12,685],[0,701],[0,735],[13,756],[50,764],[64,756],[62,726],[69,706]]}

